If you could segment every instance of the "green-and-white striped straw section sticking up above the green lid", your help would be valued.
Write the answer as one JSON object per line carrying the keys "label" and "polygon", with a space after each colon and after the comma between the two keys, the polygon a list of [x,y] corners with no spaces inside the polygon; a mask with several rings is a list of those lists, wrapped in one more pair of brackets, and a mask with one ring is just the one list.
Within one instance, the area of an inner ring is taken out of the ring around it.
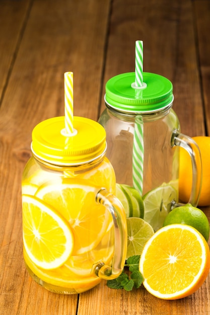
{"label": "green-and-white striped straw section sticking up above the green lid", "polygon": [[135,42],[135,86],[143,86],[143,41]]}

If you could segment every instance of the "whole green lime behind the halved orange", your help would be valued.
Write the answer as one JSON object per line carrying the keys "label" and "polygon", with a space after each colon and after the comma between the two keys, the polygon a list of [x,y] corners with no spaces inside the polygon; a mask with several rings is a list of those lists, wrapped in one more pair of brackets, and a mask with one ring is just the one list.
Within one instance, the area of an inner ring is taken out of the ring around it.
{"label": "whole green lime behind the halved orange", "polygon": [[174,223],[187,224],[196,228],[203,235],[206,242],[208,241],[208,219],[203,211],[193,207],[191,204],[186,204],[170,211],[163,222],[163,226]]}

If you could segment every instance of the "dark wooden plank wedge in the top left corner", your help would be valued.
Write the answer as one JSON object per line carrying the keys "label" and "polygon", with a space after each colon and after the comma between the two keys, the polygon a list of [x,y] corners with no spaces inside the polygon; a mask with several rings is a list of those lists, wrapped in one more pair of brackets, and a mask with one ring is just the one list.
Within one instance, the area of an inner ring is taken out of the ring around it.
{"label": "dark wooden plank wedge in the top left corner", "polygon": [[31,0],[0,2],[0,106],[24,31]]}

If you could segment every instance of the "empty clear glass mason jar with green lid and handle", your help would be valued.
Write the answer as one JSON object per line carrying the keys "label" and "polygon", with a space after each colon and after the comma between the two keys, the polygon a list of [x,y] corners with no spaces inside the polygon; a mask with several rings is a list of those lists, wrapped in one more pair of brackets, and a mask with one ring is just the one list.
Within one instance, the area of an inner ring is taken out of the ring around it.
{"label": "empty clear glass mason jar with green lid and handle", "polygon": [[135,73],[112,77],[106,84],[106,109],[99,123],[106,130],[107,157],[116,182],[136,188],[143,196],[145,220],[159,229],[178,206],[179,146],[191,156],[193,185],[189,203],[196,206],[201,186],[201,160],[196,143],[180,133],[172,109],[173,86],[158,74],[143,73],[136,88]]}

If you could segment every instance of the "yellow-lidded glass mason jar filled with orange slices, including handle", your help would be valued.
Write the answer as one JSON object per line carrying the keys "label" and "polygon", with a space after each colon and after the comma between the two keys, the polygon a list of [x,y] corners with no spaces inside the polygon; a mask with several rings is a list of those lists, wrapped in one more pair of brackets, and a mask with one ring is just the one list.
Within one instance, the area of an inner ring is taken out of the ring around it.
{"label": "yellow-lidded glass mason jar filled with orange slices, including handle", "polygon": [[126,218],[100,124],[74,117],[38,124],[22,179],[24,260],[48,290],[74,294],[116,278],[127,249]]}

